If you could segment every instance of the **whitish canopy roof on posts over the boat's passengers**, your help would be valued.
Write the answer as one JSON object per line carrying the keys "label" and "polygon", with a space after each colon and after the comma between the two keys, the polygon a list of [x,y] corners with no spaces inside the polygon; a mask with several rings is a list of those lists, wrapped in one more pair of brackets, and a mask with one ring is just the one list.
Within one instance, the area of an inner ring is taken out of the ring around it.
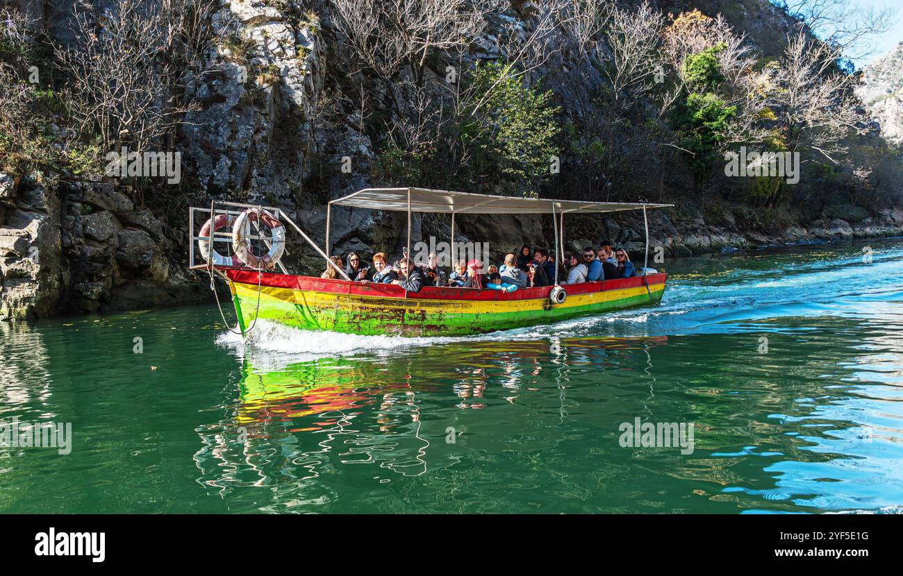
{"label": "whitish canopy roof on posts over the boat's passengers", "polygon": [[581,200],[552,200],[545,198],[517,198],[490,196],[452,190],[428,190],[425,188],[365,188],[330,204],[373,210],[408,210],[412,212],[443,212],[460,214],[555,214],[600,213],[618,210],[663,208],[673,204],[590,202]]}

